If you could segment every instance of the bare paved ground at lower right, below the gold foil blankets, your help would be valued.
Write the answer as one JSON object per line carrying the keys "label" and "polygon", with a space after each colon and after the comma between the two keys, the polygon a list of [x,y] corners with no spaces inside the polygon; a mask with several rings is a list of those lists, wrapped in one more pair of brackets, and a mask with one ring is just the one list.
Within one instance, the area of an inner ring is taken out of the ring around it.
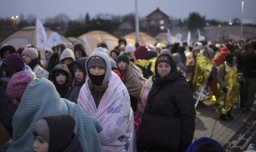
{"label": "bare paved ground at lower right, below the gold foil blankets", "polygon": [[[256,109],[255,104],[253,109]],[[232,116],[234,116],[233,121],[222,121],[219,119],[219,113],[215,112],[214,106],[200,104],[196,109],[195,138],[210,137],[223,145],[239,147],[240,150],[236,151],[244,150],[256,133],[256,122],[254,122],[256,112],[252,110],[245,113],[235,108],[232,110]],[[251,136],[247,134],[248,128],[251,130]],[[243,138],[245,138],[244,141]]]}

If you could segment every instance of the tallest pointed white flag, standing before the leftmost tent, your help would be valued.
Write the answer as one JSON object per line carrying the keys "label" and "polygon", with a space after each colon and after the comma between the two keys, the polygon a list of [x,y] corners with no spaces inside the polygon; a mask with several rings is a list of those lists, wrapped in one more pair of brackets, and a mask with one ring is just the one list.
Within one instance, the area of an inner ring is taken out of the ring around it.
{"label": "tallest pointed white flag, standing before the leftmost tent", "polygon": [[45,33],[44,26],[41,21],[37,18],[36,22],[37,30],[37,49],[46,49],[47,47],[47,34]]}

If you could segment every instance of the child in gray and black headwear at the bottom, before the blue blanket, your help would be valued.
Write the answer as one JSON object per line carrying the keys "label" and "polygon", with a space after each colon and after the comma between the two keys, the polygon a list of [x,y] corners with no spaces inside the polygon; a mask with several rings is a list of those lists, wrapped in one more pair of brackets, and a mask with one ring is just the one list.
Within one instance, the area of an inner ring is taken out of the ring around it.
{"label": "child in gray and black headwear at the bottom, before the blue blanket", "polygon": [[33,128],[36,152],[82,151],[73,133],[75,120],[69,115],[47,116]]}

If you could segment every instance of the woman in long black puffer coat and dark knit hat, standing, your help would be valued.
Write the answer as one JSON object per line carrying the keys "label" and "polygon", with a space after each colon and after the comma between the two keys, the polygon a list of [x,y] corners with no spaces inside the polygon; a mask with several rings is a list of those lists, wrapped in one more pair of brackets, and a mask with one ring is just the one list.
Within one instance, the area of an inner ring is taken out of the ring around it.
{"label": "woman in long black puffer coat and dark knit hat, standing", "polygon": [[185,151],[195,131],[192,91],[172,56],[160,55],[155,66],[138,130],[138,151]]}

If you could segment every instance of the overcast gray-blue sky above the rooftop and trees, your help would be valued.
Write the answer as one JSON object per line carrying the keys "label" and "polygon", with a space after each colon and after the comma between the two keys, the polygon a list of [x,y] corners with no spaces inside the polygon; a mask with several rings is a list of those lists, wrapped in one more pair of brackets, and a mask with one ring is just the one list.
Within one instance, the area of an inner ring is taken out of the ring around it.
{"label": "overcast gray-blue sky above the rooftop and trees", "polygon": [[[77,19],[87,12],[124,15],[134,13],[135,0],[1,0],[0,17],[34,14],[41,20],[57,14]],[[244,19],[256,24],[256,0],[245,0]],[[145,17],[160,8],[169,17],[185,19],[191,12],[205,15],[206,19],[232,21],[241,18],[241,0],[138,0],[138,15]]]}

